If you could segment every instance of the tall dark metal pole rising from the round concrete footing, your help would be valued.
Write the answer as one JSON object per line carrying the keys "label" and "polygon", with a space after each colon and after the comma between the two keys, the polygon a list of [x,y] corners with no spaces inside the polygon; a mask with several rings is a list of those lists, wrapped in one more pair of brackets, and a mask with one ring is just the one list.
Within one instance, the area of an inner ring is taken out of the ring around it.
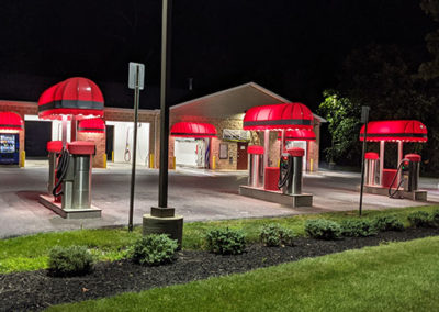
{"label": "tall dark metal pole rising from the round concrete footing", "polygon": [[160,170],[158,207],[168,207],[168,154],[169,154],[169,87],[172,0],[164,0],[161,22],[161,81],[160,81]]}

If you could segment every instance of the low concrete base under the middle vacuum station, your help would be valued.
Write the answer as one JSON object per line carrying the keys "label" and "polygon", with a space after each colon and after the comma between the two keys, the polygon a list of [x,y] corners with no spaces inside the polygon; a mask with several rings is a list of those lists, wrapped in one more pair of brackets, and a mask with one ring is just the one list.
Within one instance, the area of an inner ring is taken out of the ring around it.
{"label": "low concrete base under the middle vacuum station", "polygon": [[260,188],[239,186],[239,194],[266,201],[277,202],[291,208],[313,205],[313,194],[307,194],[307,193],[283,194],[280,191],[269,191]]}

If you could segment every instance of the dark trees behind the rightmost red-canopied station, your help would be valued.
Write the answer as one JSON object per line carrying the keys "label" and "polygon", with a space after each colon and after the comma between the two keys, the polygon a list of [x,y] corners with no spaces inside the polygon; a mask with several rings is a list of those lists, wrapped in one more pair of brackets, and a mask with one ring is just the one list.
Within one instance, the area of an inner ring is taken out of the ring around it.
{"label": "dark trees behind the rightmost red-canopied station", "polygon": [[[421,9],[439,22],[439,1],[421,0]],[[324,92],[320,113],[331,123],[328,160],[359,165],[361,105],[371,108],[370,120],[415,119],[427,125],[427,144],[405,144],[405,153],[423,156],[425,174],[439,176],[439,30],[425,37],[428,53],[410,46],[369,44],[345,59],[339,83]],[[378,149],[370,144],[369,149]],[[390,145],[390,154],[396,146]],[[395,144],[394,144],[395,145]],[[394,158],[394,157],[393,157]],[[392,157],[387,157],[386,166]]]}

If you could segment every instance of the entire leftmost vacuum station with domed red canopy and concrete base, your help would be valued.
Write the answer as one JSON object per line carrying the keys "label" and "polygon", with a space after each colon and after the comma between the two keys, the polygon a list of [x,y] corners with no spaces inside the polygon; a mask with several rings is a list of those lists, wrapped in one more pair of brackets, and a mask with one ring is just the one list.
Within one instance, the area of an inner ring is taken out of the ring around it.
{"label": "entire leftmost vacuum station with domed red canopy and concrete base", "polygon": [[63,122],[63,140],[47,143],[49,194],[41,196],[40,202],[63,218],[100,218],[101,209],[91,204],[95,145],[89,141],[67,142],[69,120],[103,116],[103,97],[98,86],[86,78],[70,78],[48,88],[40,97],[38,116]]}

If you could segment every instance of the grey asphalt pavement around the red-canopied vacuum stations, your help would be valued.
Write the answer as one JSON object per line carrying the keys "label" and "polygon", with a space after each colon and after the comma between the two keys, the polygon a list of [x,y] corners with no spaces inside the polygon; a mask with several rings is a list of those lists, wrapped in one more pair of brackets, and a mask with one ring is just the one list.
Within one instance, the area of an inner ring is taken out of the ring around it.
{"label": "grey asphalt pavement around the red-canopied vacuum stations", "polygon": [[[38,203],[46,193],[47,161],[26,161],[25,168],[0,168],[0,238],[38,232],[126,225],[130,207],[131,166],[109,164],[93,169],[92,204],[102,218],[66,220]],[[322,170],[304,177],[303,191],[314,194],[311,208],[281,204],[238,194],[247,185],[247,171],[211,171],[178,168],[169,171],[168,207],[184,216],[184,222],[240,218],[285,216],[303,213],[357,210],[360,175]],[[386,209],[439,203],[438,179],[421,179],[429,202],[390,199],[364,194],[363,209]],[[137,167],[134,223],[158,203],[158,170]]]}

